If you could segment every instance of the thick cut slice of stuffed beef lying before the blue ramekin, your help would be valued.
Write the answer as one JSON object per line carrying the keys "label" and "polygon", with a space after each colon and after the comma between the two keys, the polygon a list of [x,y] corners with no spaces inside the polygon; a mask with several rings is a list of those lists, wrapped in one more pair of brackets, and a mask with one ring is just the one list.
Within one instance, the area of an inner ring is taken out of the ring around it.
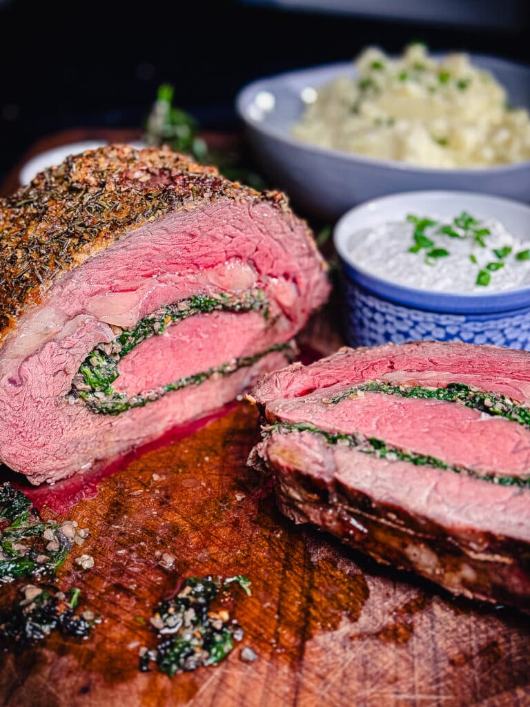
{"label": "thick cut slice of stuffed beef lying before the blue ramekin", "polygon": [[278,504],[456,594],[530,609],[530,354],[341,349],[258,383]]}

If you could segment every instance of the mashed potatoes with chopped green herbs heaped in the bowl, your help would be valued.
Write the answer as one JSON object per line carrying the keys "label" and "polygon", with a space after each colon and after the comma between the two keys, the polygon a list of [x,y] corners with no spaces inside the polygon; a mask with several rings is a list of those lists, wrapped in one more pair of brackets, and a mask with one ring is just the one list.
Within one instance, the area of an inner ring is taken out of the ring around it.
{"label": "mashed potatoes with chopped green herbs heaped in the bowl", "polygon": [[466,54],[429,57],[423,45],[390,59],[366,49],[346,76],[319,88],[293,134],[322,147],[437,168],[530,159],[530,116]]}

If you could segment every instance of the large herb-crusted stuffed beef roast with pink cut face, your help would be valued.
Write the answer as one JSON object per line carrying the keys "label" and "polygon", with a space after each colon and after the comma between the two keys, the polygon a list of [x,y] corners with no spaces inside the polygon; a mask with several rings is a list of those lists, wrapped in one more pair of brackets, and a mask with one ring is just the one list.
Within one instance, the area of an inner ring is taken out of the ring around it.
{"label": "large herb-crusted stuffed beef roast with pink cut face", "polygon": [[329,290],[305,222],[167,148],[67,158],[0,200],[0,461],[113,460],[292,361]]}

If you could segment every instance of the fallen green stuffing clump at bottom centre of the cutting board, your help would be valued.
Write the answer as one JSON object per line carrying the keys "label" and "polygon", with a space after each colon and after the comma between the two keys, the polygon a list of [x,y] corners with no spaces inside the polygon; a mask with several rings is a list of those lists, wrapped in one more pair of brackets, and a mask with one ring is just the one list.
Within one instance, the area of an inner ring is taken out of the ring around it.
{"label": "fallen green stuffing clump at bottom centre of the cutting board", "polygon": [[211,604],[232,583],[251,594],[250,582],[244,575],[224,581],[211,575],[189,577],[175,597],[159,604],[151,617],[158,645],[154,650],[141,648],[140,670],[151,670],[154,663],[160,672],[173,676],[217,665],[226,658],[234,641],[242,640],[243,631],[230,620],[228,611],[213,610]]}

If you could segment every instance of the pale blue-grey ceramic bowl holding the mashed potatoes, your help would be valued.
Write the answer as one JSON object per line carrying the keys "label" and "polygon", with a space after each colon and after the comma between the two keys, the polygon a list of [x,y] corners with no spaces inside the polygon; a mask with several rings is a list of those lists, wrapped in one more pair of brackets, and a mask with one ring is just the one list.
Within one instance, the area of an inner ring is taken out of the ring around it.
{"label": "pale blue-grey ceramic bowl holding the mashed potatoes", "polygon": [[[505,86],[512,105],[530,109],[530,67],[472,54],[471,61]],[[237,96],[261,167],[307,213],[336,219],[353,204],[418,189],[473,190],[530,201],[530,160],[483,169],[417,167],[322,148],[292,136],[305,103],[302,92],[336,76],[355,76],[352,62],[254,81]]]}

